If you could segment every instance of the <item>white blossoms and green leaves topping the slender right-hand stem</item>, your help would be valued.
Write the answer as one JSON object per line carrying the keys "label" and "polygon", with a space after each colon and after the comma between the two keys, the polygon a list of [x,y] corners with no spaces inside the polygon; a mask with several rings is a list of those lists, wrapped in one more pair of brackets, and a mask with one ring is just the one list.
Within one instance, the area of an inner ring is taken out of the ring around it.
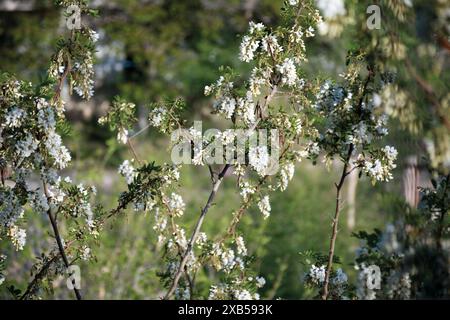
{"label": "white blossoms and green leaves topping the slender right-hand stem", "polygon": [[[367,103],[364,99],[355,101],[354,96],[349,89],[329,81],[321,86],[314,107],[324,117],[326,127],[320,133],[318,151],[323,148],[330,159],[352,145],[353,154],[357,155],[356,167],[373,183],[389,181],[393,178],[391,171],[396,167],[397,150],[390,146],[379,149],[373,145],[376,139],[388,133],[387,115],[380,114],[376,95],[369,97]],[[364,154],[358,154],[358,150],[364,150]]]}

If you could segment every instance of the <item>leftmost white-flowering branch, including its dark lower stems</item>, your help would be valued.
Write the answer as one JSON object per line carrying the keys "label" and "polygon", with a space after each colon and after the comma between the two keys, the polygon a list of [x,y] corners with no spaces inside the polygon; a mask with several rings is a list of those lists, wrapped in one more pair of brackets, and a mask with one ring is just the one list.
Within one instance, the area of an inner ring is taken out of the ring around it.
{"label": "leftmost white-flowering branch, including its dark lower stems", "polygon": [[[82,14],[94,14],[87,1],[56,1],[56,4],[62,10],[77,5]],[[38,283],[44,275],[49,278],[59,274],[66,276],[66,270],[74,261],[89,259],[91,251],[87,243],[98,234],[96,215],[100,215],[101,209],[92,208],[90,204],[96,189],[76,185],[59,173],[71,161],[70,152],[62,143],[61,135],[67,133],[68,124],[61,92],[67,83],[70,92],[73,88],[82,98],[92,96],[92,56],[97,40],[96,33],[87,26],[68,33],[67,38],[58,40],[47,78],[42,83],[33,85],[1,74],[0,237],[10,238],[15,248],[22,250],[26,232],[20,225],[25,221],[25,208],[31,208],[36,214],[47,215],[56,242],[56,248],[43,254],[35,265],[36,281],[30,283],[21,298],[36,296],[42,289]],[[36,180],[40,181],[40,186],[34,186]],[[69,229],[67,235],[59,228],[58,220],[62,219]],[[74,281],[74,293],[81,299]],[[19,295],[14,287],[10,291]]]}

